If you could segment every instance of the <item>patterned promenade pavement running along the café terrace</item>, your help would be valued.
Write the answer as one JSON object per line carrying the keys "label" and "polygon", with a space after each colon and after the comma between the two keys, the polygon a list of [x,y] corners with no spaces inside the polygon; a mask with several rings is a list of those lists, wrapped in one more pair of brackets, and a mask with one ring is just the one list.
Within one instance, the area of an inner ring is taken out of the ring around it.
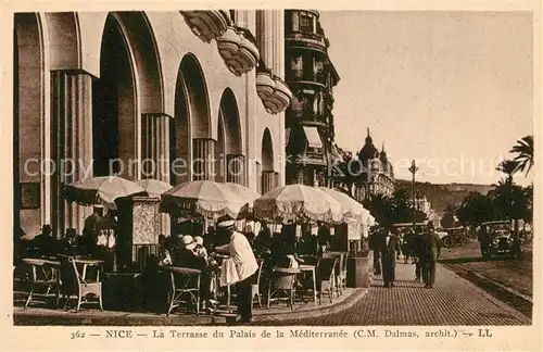
{"label": "patterned promenade pavement running along the caf\u00e9 terrace", "polygon": [[[278,303],[270,310],[255,309],[253,325],[257,326],[500,326],[531,325],[531,318],[503,303],[439,264],[433,289],[414,281],[413,264],[396,263],[395,287],[384,288],[380,276],[369,289],[349,289],[333,303],[323,300],[315,306],[311,301],[299,303],[292,311]],[[74,311],[31,306],[14,309],[15,325],[227,325],[227,315],[187,314],[179,311],[164,314],[100,312],[94,307]]]}

